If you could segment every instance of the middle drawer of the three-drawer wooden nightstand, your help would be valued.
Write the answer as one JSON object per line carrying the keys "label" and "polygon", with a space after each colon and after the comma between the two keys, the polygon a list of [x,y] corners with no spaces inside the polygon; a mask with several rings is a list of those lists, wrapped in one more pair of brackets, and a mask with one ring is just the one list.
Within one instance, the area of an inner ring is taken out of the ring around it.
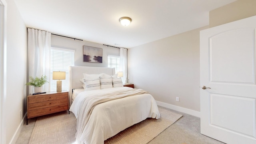
{"label": "middle drawer of the three-drawer wooden nightstand", "polygon": [[29,104],[28,110],[36,110],[39,108],[47,108],[47,107],[58,106],[58,105],[67,104],[67,103],[68,103],[68,98],[64,98],[60,100],[51,100],[46,102],[37,102],[37,103]]}

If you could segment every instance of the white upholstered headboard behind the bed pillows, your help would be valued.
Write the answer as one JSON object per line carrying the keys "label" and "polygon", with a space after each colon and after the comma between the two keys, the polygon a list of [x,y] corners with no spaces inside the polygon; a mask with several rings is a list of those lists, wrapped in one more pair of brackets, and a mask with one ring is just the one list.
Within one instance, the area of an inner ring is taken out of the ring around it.
{"label": "white upholstered headboard behind the bed pillows", "polygon": [[101,74],[105,73],[110,76],[116,74],[115,68],[106,67],[90,67],[90,66],[70,66],[69,67],[69,106],[72,104],[72,90],[76,88],[83,88],[80,81],[84,74]]}

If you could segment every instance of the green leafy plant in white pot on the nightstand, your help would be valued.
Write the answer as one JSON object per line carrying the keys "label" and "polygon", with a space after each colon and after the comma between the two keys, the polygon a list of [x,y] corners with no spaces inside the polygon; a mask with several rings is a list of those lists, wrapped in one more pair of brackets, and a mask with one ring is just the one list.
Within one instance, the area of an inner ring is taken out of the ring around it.
{"label": "green leafy plant in white pot on the nightstand", "polygon": [[26,83],[27,86],[34,86],[34,92],[42,92],[42,86],[47,82],[46,76],[42,75],[41,78],[29,76],[30,82]]}

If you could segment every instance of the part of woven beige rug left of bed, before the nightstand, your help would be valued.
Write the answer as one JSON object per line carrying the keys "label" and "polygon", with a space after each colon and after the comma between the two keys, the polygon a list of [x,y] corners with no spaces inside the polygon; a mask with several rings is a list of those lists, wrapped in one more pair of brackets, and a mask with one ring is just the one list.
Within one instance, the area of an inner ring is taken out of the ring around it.
{"label": "part of woven beige rug left of bed, before the nightstand", "polygon": [[72,112],[39,116],[28,144],[72,144],[76,141],[76,117]]}

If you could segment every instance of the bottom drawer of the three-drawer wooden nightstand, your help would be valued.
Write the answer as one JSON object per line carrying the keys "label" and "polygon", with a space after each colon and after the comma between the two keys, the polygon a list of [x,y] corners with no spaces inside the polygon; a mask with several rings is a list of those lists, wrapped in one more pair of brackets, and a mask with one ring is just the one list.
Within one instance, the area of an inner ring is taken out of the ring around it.
{"label": "bottom drawer of the three-drawer wooden nightstand", "polygon": [[28,118],[33,118],[36,116],[42,116],[45,114],[51,114],[54,112],[61,112],[63,110],[68,110],[68,104],[62,104],[62,105],[58,105],[58,106],[51,106],[51,107],[47,107],[47,108],[40,108],[40,109],[36,109],[36,110],[30,110],[28,112]]}

